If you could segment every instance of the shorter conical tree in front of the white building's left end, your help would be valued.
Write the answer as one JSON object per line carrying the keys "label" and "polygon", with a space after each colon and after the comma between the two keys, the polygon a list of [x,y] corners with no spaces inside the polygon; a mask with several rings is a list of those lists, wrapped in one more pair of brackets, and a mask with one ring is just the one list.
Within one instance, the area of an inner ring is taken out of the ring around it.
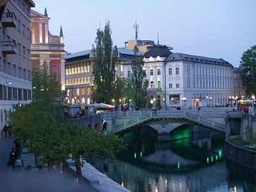
{"label": "shorter conical tree in front of the white building's left end", "polygon": [[148,81],[143,72],[143,56],[139,53],[138,47],[134,47],[134,58],[131,61],[131,75],[127,79],[126,89],[128,97],[138,108],[147,104]]}

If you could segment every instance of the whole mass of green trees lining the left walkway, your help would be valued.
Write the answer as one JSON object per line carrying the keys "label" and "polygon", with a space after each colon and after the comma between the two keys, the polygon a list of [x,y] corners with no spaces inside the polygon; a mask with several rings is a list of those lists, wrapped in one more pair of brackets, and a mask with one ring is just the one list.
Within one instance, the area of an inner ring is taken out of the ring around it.
{"label": "whole mass of green trees lining the left walkway", "polygon": [[64,163],[71,154],[77,177],[81,180],[84,160],[100,156],[114,158],[124,145],[116,135],[104,136],[100,132],[88,131],[64,118],[55,80],[46,68],[33,70],[36,98],[31,106],[22,106],[10,113],[13,133],[23,147],[40,157],[43,164]]}

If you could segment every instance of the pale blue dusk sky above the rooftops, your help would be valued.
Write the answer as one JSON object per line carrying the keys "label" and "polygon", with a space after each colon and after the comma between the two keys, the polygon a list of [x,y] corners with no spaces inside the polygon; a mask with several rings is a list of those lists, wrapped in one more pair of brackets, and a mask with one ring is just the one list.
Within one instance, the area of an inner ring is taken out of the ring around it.
{"label": "pale blue dusk sky above the rooftops", "polygon": [[[137,20],[138,36],[143,40],[157,42],[158,32],[159,43],[170,45],[173,52],[223,58],[235,67],[243,51],[256,44],[255,0],[34,2],[37,12],[44,13],[47,8],[52,35],[59,35],[62,25],[68,52],[91,49],[97,28],[103,28],[106,20],[111,22],[113,44],[118,47],[134,38],[133,24]],[[207,42],[214,43],[196,45]]]}

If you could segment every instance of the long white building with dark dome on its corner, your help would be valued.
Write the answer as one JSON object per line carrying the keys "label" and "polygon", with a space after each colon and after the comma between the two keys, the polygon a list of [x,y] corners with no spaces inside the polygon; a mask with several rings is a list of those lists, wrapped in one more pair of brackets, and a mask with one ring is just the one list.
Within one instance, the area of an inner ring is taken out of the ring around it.
{"label": "long white building with dark dome on its corner", "polygon": [[[225,60],[173,53],[155,45],[144,54],[148,94],[165,107],[225,106],[232,95],[233,66]],[[126,65],[124,76],[131,67]]]}

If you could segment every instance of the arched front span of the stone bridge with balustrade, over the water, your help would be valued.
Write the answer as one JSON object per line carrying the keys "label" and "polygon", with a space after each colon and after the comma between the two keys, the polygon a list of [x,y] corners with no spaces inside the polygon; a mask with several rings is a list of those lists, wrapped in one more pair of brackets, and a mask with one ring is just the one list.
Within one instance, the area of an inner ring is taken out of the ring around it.
{"label": "arched front span of the stone bridge with balustrade, over the water", "polygon": [[182,122],[191,122],[192,124],[200,124],[216,131],[225,132],[225,125],[220,124],[209,118],[225,118],[226,111],[131,111],[116,112],[115,124],[112,131],[115,133],[129,131],[132,127],[138,125],[149,125],[152,120],[160,122],[172,122],[172,120],[180,120]]}

